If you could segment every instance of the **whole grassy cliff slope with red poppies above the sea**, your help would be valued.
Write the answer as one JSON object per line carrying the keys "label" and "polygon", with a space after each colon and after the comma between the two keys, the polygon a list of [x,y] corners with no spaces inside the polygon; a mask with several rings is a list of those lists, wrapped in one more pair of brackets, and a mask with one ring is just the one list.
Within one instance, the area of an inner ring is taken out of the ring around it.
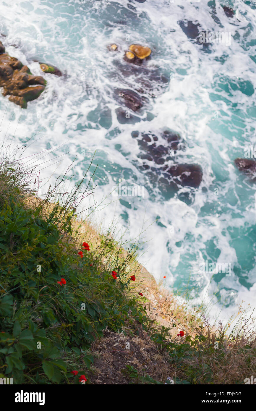
{"label": "whole grassy cliff slope with red poppies above the sea", "polygon": [[229,332],[210,326],[201,307],[188,309],[155,282],[136,245],[126,249],[79,219],[80,185],[53,202],[56,186],[41,200],[30,182],[19,164],[1,159],[0,378],[244,384],[253,375],[246,313]]}

